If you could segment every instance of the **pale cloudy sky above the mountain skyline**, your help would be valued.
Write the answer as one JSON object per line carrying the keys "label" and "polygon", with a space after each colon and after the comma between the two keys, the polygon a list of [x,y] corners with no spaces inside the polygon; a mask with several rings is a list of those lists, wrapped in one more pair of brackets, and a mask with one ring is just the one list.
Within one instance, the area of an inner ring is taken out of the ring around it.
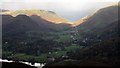
{"label": "pale cloudy sky above the mountain skyline", "polygon": [[1,0],[0,8],[7,10],[50,10],[70,21],[76,21],[110,6],[119,0]]}

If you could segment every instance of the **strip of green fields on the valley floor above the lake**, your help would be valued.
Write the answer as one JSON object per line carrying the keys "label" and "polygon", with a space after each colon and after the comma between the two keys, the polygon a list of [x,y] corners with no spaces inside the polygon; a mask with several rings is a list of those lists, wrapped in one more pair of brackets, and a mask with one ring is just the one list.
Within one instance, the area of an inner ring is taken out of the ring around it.
{"label": "strip of green fields on the valley floor above the lake", "polygon": [[79,45],[72,44],[70,46],[65,47],[63,50],[58,50],[49,53],[43,53],[40,54],[39,56],[35,55],[27,55],[24,53],[12,53],[12,52],[3,52],[3,57],[13,59],[13,60],[21,60],[21,61],[35,61],[35,62],[45,62],[47,60],[48,56],[54,57],[54,58],[59,58],[63,55],[65,55],[69,51],[73,51],[77,48],[80,48]]}

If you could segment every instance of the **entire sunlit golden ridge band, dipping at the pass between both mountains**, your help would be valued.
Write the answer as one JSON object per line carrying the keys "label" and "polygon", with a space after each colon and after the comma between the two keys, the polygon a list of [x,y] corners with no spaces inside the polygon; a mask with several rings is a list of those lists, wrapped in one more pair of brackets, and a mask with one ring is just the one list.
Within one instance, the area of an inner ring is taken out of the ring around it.
{"label": "entire sunlit golden ridge band, dipping at the pass between both mountains", "polygon": [[[119,5],[112,5],[112,6],[107,6],[107,7],[113,7],[113,6],[119,6]],[[102,11],[103,9],[105,9],[107,7],[101,8],[101,9],[97,10],[96,12],[94,12],[93,14],[85,16],[85,17],[83,17],[75,22],[71,22],[71,21],[57,15],[55,12],[48,11],[48,10],[37,10],[37,9],[11,10],[11,11],[0,12],[0,14],[11,15],[13,17],[16,17],[17,15],[20,15],[20,14],[24,14],[24,15],[27,15],[29,17],[36,15],[36,16],[39,16],[39,17],[41,17],[41,18],[43,18],[51,23],[54,23],[54,24],[64,23],[64,24],[69,24],[72,27],[76,27],[76,26],[79,26],[82,23],[86,22],[87,19],[91,18],[96,13],[99,13],[100,11]]]}

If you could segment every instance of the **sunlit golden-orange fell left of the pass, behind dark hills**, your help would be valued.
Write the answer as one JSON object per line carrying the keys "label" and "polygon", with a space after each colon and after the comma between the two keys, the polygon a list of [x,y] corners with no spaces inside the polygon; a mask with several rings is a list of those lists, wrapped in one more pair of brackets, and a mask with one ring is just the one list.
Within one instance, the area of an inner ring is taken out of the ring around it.
{"label": "sunlit golden-orange fell left of the pass, behind dark hills", "polygon": [[[69,22],[67,19],[58,16],[55,12],[53,11],[45,11],[45,10],[16,10],[16,11],[6,11],[6,12],[2,12],[0,14],[5,14],[5,15],[11,15],[13,17],[16,17],[17,15],[20,14],[24,14],[27,15],[29,17],[36,15],[39,16],[47,21],[50,21],[51,23],[55,23],[55,24],[60,24],[60,23],[66,23],[66,24],[72,24],[71,22]],[[34,19],[32,17],[32,19]]]}

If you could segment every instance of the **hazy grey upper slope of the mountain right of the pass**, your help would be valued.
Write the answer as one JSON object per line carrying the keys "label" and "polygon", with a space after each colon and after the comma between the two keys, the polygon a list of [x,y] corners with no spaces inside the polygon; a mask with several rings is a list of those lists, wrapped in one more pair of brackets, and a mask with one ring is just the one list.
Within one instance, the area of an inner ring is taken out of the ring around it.
{"label": "hazy grey upper slope of the mountain right of the pass", "polygon": [[81,25],[83,28],[95,29],[105,27],[114,21],[118,20],[118,6],[109,6],[102,8],[94,13],[92,16],[88,17]]}

